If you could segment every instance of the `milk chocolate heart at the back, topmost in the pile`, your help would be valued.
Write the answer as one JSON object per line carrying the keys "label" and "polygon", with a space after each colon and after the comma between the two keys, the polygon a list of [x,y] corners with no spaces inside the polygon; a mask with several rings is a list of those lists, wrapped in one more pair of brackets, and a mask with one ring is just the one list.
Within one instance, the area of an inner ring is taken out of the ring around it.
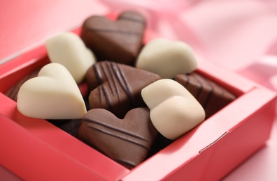
{"label": "milk chocolate heart at the back, topmost in the pile", "polygon": [[116,21],[92,16],[85,20],[80,37],[92,49],[98,61],[115,61],[134,65],[141,50],[145,18],[126,11]]}

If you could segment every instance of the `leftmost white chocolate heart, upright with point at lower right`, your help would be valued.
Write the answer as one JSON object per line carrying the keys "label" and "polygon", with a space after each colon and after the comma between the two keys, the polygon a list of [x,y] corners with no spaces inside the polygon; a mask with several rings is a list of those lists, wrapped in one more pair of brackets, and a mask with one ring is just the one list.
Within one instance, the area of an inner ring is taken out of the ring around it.
{"label": "leftmost white chocolate heart, upright with point at lower right", "polygon": [[41,119],[76,119],[87,112],[76,82],[59,63],[45,65],[38,77],[22,84],[17,109],[24,116]]}

